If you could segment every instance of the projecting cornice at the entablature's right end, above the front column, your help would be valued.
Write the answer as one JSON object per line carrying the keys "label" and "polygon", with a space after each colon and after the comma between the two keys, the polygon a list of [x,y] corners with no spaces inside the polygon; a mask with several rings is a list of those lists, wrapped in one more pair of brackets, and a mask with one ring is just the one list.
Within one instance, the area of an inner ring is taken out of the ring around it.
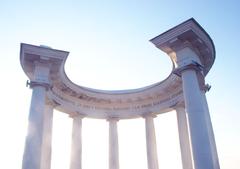
{"label": "projecting cornice at the entablature's right end, above the front column", "polygon": [[184,47],[191,47],[203,64],[205,75],[215,60],[215,47],[212,39],[193,18],[151,39],[150,42],[167,53],[175,63],[176,52]]}

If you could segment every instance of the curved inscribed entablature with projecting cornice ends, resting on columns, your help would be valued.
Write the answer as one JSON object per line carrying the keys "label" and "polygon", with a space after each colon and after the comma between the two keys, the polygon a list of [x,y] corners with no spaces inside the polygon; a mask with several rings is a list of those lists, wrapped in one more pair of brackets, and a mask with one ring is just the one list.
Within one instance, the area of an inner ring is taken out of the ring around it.
{"label": "curved inscribed entablature with projecting cornice ends, resting on columns", "polygon": [[181,78],[174,73],[179,68],[177,51],[184,47],[193,50],[199,57],[204,75],[215,59],[212,40],[194,19],[157,36],[151,42],[170,56],[174,63],[173,71],[164,81],[140,89],[104,91],[74,84],[64,70],[69,54],[65,51],[21,44],[20,61],[31,81],[36,81],[35,63],[49,67],[47,99],[55,103],[60,111],[92,118],[137,118],[147,113],[167,112],[184,102]]}

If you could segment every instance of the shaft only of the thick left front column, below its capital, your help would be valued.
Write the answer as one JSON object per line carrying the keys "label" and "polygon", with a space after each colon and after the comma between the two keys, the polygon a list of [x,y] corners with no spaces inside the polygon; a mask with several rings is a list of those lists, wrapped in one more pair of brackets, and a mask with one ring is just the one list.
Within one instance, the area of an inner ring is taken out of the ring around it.
{"label": "shaft only of the thick left front column, below its capital", "polygon": [[45,92],[45,88],[42,86],[35,86],[32,91],[28,134],[23,155],[23,169],[40,169]]}

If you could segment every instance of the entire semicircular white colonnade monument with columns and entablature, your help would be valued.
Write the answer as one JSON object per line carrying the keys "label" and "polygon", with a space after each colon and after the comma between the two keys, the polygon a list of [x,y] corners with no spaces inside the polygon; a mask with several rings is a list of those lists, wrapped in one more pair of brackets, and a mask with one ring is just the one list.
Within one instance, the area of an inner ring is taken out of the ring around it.
{"label": "entire semicircular white colonnade monument with columns and entablature", "polygon": [[119,169],[118,121],[143,117],[148,169],[158,169],[153,118],[171,110],[177,113],[183,168],[219,169],[204,81],[215,60],[211,38],[189,19],[150,41],[170,56],[171,74],[151,86],[120,91],[78,86],[64,71],[68,52],[21,44],[21,65],[33,90],[22,168],[51,168],[52,111],[56,109],[73,118],[71,169],[82,168],[83,117],[109,123],[109,169]]}

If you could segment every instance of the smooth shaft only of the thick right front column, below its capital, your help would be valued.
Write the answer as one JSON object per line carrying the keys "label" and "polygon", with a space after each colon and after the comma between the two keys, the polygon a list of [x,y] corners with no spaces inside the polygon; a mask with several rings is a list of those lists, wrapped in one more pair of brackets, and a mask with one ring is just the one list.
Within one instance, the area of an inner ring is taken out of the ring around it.
{"label": "smooth shaft only of the thick right front column, below its capital", "polygon": [[204,115],[205,105],[202,101],[196,70],[191,67],[185,68],[181,75],[195,169],[213,169],[208,127]]}

